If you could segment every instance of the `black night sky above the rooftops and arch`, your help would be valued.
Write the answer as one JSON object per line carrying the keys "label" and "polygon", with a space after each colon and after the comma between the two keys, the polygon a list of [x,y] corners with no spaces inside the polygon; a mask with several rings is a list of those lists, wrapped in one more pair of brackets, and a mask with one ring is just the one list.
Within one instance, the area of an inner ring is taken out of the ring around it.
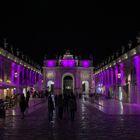
{"label": "black night sky above the rooftops and arch", "polygon": [[139,11],[133,3],[9,3],[2,10],[0,44],[19,48],[42,65],[44,55],[55,58],[69,49],[74,55],[102,62],[140,31]]}

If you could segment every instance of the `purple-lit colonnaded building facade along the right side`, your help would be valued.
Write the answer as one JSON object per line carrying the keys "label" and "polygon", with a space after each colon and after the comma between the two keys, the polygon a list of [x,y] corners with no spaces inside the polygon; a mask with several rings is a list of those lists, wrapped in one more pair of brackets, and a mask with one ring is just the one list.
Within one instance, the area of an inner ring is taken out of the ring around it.
{"label": "purple-lit colonnaded building facade along the right side", "polygon": [[96,70],[94,80],[98,94],[140,104],[140,45]]}

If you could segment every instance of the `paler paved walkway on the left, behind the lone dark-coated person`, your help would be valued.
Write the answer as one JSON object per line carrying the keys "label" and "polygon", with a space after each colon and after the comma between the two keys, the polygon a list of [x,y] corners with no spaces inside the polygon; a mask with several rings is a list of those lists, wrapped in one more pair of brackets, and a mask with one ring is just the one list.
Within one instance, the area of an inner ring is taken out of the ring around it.
{"label": "paler paved walkway on the left, behind the lone dark-coated person", "polygon": [[[25,115],[30,114],[30,113],[36,111],[37,109],[39,109],[42,106],[42,103],[44,103],[45,101],[46,101],[46,99],[44,99],[44,98],[31,98],[29,100],[29,108],[25,112]],[[19,104],[17,104],[13,108],[6,110],[6,117],[7,116],[17,116],[17,115],[21,115]]]}

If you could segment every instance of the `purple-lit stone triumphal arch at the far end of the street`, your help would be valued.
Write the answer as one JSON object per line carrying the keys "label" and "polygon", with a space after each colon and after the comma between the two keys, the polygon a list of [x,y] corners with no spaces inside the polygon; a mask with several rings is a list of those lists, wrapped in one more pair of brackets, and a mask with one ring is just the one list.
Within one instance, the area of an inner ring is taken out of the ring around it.
{"label": "purple-lit stone triumphal arch at the far end of the street", "polygon": [[74,59],[69,51],[58,60],[44,60],[43,90],[55,94],[65,90],[74,93],[93,92],[93,67],[91,60]]}

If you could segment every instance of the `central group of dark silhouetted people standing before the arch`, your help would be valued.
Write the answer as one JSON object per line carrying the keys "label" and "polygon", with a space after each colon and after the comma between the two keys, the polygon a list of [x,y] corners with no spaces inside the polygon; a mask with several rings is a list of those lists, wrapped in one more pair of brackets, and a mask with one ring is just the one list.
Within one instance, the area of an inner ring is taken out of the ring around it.
{"label": "central group of dark silhouetted people standing before the arch", "polygon": [[64,113],[69,114],[70,119],[74,121],[77,110],[76,96],[73,92],[55,95],[50,92],[48,98],[48,118],[53,120],[54,111],[58,119],[62,120]]}

